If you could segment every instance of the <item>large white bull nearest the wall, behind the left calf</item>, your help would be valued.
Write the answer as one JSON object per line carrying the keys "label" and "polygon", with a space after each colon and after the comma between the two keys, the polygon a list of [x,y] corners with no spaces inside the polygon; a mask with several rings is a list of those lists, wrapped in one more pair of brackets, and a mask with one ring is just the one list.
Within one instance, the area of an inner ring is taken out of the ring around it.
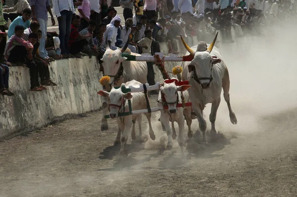
{"label": "large white bull nearest the wall, behind the left calf", "polygon": [[[129,45],[129,39],[125,46],[121,49],[112,50],[109,48],[108,44],[105,43],[105,53],[101,58],[103,62],[104,75],[110,76],[109,87],[103,87],[109,91],[113,86],[120,86],[122,83],[126,83],[135,79],[136,81],[145,84],[147,83],[148,66],[147,62],[137,62],[137,61],[125,61],[127,58],[122,57],[122,53],[125,51],[131,55],[140,56],[140,54],[133,53],[127,49]],[[121,66],[124,69],[121,72]],[[124,76],[124,77],[122,77]],[[101,131],[108,129],[107,120],[104,115],[107,114],[107,100],[103,98],[102,100],[102,119],[101,119]]]}

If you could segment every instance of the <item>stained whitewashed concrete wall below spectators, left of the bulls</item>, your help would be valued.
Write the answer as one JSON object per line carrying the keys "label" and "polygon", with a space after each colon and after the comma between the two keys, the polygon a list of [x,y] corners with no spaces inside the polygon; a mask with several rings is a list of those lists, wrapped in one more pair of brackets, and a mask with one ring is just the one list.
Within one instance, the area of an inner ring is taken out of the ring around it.
{"label": "stained whitewashed concrete wall below spectators, left of the bulls", "polygon": [[97,92],[102,74],[96,57],[52,62],[50,75],[58,86],[31,92],[29,69],[10,67],[9,86],[15,96],[0,96],[0,140],[101,106]]}

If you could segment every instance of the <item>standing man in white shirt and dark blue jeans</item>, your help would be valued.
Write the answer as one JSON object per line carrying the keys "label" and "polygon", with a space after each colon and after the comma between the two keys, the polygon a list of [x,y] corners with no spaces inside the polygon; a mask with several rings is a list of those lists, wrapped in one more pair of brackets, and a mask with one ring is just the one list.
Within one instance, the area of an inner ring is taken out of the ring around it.
{"label": "standing man in white shirt and dark blue jeans", "polygon": [[72,0],[52,0],[52,9],[58,18],[59,39],[62,58],[71,57],[69,52],[69,36],[71,31],[71,19],[75,14]]}

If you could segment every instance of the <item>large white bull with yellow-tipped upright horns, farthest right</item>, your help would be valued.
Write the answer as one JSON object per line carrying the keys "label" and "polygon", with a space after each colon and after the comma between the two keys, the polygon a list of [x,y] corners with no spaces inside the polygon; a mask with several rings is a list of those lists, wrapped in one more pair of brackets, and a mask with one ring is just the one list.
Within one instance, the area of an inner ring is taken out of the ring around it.
{"label": "large white bull with yellow-tipped upright horns, farthest right", "polygon": [[205,143],[207,143],[205,136],[206,122],[202,116],[202,111],[207,103],[212,103],[209,120],[211,122],[211,134],[216,134],[215,119],[221,101],[222,88],[224,90],[224,99],[228,105],[230,120],[233,124],[237,124],[235,113],[230,105],[229,72],[226,64],[222,61],[222,55],[214,47],[217,35],[211,45],[199,42],[198,46],[192,48],[181,37],[185,48],[188,50],[186,55],[191,54],[194,56],[191,62],[185,62],[183,65],[182,80],[187,80],[192,85],[192,88],[189,90],[189,96],[192,102],[192,109],[197,115],[199,128],[203,134],[203,142]]}

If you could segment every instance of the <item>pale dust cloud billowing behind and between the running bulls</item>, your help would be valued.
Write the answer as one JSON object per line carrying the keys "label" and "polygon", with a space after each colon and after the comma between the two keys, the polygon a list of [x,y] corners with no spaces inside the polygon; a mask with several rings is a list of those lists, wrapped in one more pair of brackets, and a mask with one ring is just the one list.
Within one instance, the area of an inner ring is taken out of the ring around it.
{"label": "pale dust cloud billowing behind and between the running bulls", "polygon": [[[283,22],[262,32],[262,35],[247,36],[241,38],[240,43],[223,44],[219,48],[229,70],[231,106],[238,119],[237,125],[230,122],[222,91],[216,130],[224,135],[258,132],[263,126],[258,122],[260,118],[297,106],[297,22]],[[203,111],[207,130],[210,130],[210,108],[211,104],[207,104]],[[159,113],[152,117],[157,139],[149,139],[146,149],[157,149],[167,143],[167,135],[157,121]],[[177,123],[175,128],[178,132]],[[185,133],[187,129],[185,124]],[[198,121],[193,120],[192,131],[197,129]],[[177,140],[173,142],[173,148],[179,148]]]}

